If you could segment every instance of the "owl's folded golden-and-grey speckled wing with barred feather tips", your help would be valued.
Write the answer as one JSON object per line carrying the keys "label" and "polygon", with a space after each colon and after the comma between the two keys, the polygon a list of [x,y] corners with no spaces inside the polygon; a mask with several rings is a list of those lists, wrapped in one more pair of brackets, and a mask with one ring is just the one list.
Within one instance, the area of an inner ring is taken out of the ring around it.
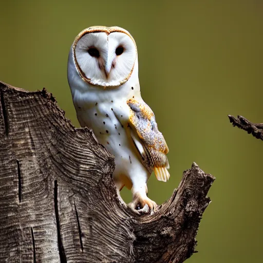
{"label": "owl's folded golden-and-grey speckled wing with barred feather tips", "polygon": [[166,154],[169,149],[162,133],[157,128],[154,112],[146,103],[135,99],[127,101],[130,108],[130,135],[140,153],[142,163],[149,172],[154,170],[156,178],[166,182],[170,178]]}

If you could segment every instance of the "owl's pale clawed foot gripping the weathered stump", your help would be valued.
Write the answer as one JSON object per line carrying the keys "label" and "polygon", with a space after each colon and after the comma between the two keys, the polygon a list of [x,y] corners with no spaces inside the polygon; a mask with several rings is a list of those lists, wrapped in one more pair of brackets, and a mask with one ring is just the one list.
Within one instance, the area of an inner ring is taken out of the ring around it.
{"label": "owl's pale clawed foot gripping the weathered stump", "polygon": [[157,206],[156,202],[149,199],[145,194],[140,192],[133,194],[133,201],[128,203],[130,209],[132,209],[137,214],[153,214]]}

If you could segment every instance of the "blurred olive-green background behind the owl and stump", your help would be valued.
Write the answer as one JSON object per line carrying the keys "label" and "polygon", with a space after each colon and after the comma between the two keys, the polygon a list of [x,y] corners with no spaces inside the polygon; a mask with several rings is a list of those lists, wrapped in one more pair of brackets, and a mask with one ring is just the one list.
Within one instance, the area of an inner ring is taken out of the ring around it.
{"label": "blurred olive-green background behind the owl and stump", "polygon": [[74,37],[92,25],[127,29],[142,97],[170,148],[171,179],[152,176],[149,197],[169,198],[195,161],[216,181],[199,253],[187,262],[262,262],[263,144],[227,117],[263,122],[262,1],[1,1],[0,9],[0,79],[46,87],[76,126],[67,83]]}

